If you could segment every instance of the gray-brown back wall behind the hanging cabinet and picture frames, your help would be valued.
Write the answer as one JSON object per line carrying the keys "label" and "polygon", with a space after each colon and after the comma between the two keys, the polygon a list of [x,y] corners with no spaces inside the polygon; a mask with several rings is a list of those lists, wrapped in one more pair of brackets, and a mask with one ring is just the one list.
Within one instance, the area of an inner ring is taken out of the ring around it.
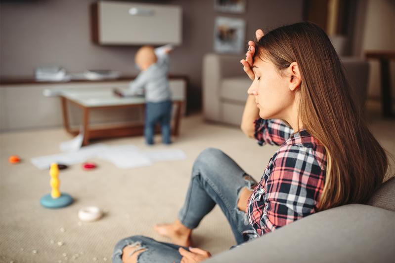
{"label": "gray-brown back wall behind the hanging cabinet and picture frames", "polygon": [[[216,12],[214,0],[139,1],[176,4],[183,9],[182,45],[172,54],[170,72],[189,78],[188,110],[199,109],[201,105],[202,57],[213,52],[216,16],[245,19],[248,39],[257,28],[273,28],[302,20],[303,0],[246,1],[247,10],[241,15]],[[90,41],[89,5],[92,2],[94,0],[1,1],[0,77],[33,77],[34,68],[40,65],[60,65],[69,72],[111,69],[136,75],[133,57],[138,46],[98,46]]]}

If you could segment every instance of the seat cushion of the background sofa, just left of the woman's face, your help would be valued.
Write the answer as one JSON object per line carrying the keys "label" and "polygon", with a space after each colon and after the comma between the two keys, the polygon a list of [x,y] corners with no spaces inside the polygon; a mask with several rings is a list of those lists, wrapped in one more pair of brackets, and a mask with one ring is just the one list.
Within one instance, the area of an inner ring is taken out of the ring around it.
{"label": "seat cushion of the background sofa, just left of the woman's face", "polygon": [[221,100],[240,102],[244,105],[248,97],[247,89],[250,85],[251,80],[247,76],[223,78],[219,96]]}

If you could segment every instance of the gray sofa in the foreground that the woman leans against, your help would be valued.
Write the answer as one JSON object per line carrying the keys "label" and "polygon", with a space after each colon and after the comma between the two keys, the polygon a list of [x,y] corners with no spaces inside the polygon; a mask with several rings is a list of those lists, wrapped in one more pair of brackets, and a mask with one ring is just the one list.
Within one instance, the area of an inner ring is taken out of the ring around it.
{"label": "gray sofa in the foreground that the woman leans against", "polygon": [[366,205],[310,215],[205,262],[394,263],[395,178]]}

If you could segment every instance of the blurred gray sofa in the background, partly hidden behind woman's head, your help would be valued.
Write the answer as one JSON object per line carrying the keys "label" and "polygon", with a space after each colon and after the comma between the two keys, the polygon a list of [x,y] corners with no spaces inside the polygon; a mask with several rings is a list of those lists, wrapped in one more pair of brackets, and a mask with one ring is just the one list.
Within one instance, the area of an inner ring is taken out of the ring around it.
{"label": "blurred gray sofa in the background, partly hidden behind woman's head", "polygon": [[[203,58],[203,115],[206,120],[240,126],[251,80],[240,64],[242,56],[207,54]],[[369,64],[341,57],[356,103],[366,101]]]}

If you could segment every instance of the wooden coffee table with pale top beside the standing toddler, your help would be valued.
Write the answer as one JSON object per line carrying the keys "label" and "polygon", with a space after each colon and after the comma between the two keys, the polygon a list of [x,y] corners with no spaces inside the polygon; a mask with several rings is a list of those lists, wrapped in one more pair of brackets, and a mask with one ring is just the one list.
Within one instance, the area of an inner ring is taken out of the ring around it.
{"label": "wooden coffee table with pale top beside the standing toddler", "polygon": [[[97,109],[144,107],[145,99],[142,96],[118,97],[113,93],[113,88],[61,89],[59,90],[59,96],[62,103],[63,126],[68,133],[74,136],[79,134],[79,130],[70,127],[68,103],[81,108],[82,125],[84,128],[84,145],[88,145],[90,139],[142,135],[144,132],[143,124],[118,125],[96,129],[89,127],[90,111]],[[172,98],[173,105],[176,105],[175,116],[172,121],[172,135],[174,136],[178,136],[179,134],[183,100],[184,98],[179,96],[173,96]]]}

